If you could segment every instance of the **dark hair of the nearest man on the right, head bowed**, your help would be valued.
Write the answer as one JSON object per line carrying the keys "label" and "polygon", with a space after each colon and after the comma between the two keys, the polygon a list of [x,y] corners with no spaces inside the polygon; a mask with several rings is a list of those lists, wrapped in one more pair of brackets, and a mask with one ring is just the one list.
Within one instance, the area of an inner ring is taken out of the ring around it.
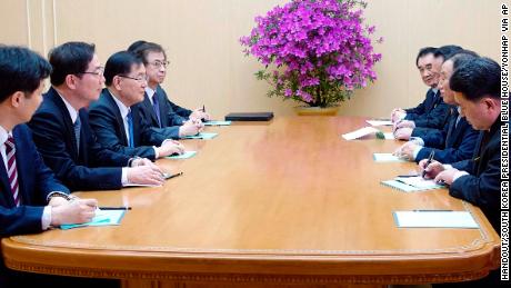
{"label": "dark hair of the nearest man on the right, head bowed", "polygon": [[500,66],[490,58],[473,58],[454,70],[449,85],[470,101],[484,96],[500,99]]}

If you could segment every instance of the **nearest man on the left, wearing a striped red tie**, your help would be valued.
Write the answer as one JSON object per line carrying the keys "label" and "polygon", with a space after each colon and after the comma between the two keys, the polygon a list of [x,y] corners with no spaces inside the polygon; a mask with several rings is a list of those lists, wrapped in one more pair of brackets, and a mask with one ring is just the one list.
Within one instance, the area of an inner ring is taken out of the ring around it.
{"label": "nearest man on the left, wearing a striped red tie", "polygon": [[[36,234],[63,224],[88,222],[94,199],[69,196],[56,180],[23,123],[42,101],[51,66],[20,47],[0,46],[0,237]],[[0,262],[0,287],[90,287],[118,281],[58,277],[9,270]],[[78,285],[78,286],[77,286]],[[83,286],[82,286],[83,285]]]}

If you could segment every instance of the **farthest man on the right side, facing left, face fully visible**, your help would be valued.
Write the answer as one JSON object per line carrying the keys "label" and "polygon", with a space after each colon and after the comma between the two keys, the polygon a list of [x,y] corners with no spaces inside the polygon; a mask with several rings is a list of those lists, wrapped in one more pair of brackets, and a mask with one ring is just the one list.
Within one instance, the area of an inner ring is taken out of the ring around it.
{"label": "farthest man on the right side, facing left, face fully visible", "polygon": [[[454,51],[457,46],[443,46],[438,49],[424,48],[419,52],[415,63],[421,72],[422,81],[431,87],[425,100],[413,109],[394,109],[394,137],[409,140],[415,131],[442,129],[449,116],[449,105],[444,103],[438,90],[440,67],[443,60]],[[414,129],[417,127],[417,129]]]}

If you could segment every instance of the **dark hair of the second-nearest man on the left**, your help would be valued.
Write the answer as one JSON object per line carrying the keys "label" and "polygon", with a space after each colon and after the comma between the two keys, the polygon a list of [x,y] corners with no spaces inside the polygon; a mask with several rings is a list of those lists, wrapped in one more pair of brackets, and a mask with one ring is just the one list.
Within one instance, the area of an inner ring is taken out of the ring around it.
{"label": "dark hair of the second-nearest man on the left", "polygon": [[86,42],[67,42],[51,49],[48,59],[53,71],[51,83],[59,86],[64,82],[68,75],[86,72],[90,61],[94,57],[96,46]]}

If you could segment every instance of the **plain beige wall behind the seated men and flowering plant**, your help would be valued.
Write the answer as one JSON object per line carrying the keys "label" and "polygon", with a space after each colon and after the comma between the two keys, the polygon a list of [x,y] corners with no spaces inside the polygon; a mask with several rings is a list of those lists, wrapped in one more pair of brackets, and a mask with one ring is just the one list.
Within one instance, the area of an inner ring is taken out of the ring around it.
{"label": "plain beige wall behind the seated men and flowering plant", "polygon": [[[272,110],[291,115],[294,102],[265,97],[253,77],[260,64],[238,42],[253,18],[284,0],[0,0],[0,42],[43,54],[70,40],[94,42],[104,62],[112,52],[144,39],[168,50],[163,87],[184,107],[229,111]],[[343,115],[387,116],[412,106],[425,87],[414,68],[419,48],[457,43],[498,59],[500,0],[370,0],[368,23],[385,41],[375,50],[379,79],[342,103]],[[504,1],[509,2],[509,1]],[[142,7],[144,4],[144,8]]]}

